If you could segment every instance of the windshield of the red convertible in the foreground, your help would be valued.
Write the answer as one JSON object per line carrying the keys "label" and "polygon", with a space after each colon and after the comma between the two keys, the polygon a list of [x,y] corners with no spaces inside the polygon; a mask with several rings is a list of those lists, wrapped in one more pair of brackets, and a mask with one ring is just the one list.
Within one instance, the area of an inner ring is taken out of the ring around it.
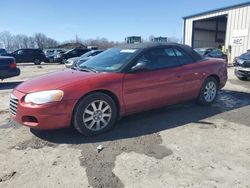
{"label": "windshield of the red convertible in the foreground", "polygon": [[111,48],[81,64],[80,68],[89,67],[100,72],[115,72],[137,53],[138,49]]}

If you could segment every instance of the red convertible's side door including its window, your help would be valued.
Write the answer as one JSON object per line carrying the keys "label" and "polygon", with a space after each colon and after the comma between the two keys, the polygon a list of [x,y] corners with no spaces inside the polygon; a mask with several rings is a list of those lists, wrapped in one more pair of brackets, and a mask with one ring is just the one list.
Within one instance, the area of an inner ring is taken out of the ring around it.
{"label": "red convertible's side door including its window", "polygon": [[[145,70],[125,74],[123,93],[126,113],[145,111],[181,101],[181,65],[172,48],[145,52],[135,63],[146,62]],[[133,67],[131,68],[133,69]]]}

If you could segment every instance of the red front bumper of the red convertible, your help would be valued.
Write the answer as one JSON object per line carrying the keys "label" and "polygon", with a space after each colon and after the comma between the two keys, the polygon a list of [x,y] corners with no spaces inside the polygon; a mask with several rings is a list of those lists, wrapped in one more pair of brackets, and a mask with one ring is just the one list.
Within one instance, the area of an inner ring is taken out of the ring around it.
{"label": "red front bumper of the red convertible", "polygon": [[25,94],[14,90],[12,95],[18,99],[16,114],[10,117],[19,124],[34,129],[66,128],[71,124],[71,116],[76,100],[65,100],[44,105],[24,102]]}

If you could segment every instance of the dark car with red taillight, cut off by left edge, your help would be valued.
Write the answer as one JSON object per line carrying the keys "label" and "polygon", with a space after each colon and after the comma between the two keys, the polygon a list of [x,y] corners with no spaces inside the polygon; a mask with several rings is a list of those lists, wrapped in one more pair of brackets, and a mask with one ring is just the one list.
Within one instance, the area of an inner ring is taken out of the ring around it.
{"label": "dark car with red taillight, cut off by left edge", "polygon": [[0,79],[6,79],[20,74],[20,69],[16,67],[15,58],[0,56]]}

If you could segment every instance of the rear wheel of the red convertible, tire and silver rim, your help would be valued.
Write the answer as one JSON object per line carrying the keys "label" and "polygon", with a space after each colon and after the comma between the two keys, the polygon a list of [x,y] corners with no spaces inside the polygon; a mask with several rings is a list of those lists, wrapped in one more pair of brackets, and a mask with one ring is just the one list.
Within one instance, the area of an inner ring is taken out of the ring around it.
{"label": "rear wheel of the red convertible, tire and silver rim", "polygon": [[219,83],[214,77],[208,77],[201,88],[198,101],[201,105],[212,104],[217,96]]}

